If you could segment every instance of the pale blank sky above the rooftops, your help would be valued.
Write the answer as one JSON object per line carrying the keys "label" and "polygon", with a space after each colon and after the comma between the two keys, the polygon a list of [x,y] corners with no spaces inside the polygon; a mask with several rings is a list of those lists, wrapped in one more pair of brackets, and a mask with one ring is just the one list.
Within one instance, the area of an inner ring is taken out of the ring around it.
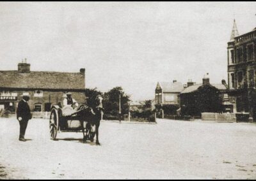
{"label": "pale blank sky above the rooftops", "polygon": [[86,88],[153,99],[157,82],[227,81],[227,42],[256,27],[255,2],[1,2],[0,69],[86,69]]}

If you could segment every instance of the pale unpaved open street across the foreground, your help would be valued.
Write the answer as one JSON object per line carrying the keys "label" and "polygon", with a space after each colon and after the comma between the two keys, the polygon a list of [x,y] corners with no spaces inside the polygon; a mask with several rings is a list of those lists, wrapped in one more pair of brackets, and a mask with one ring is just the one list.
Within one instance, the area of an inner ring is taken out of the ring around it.
{"label": "pale unpaved open street across the foreground", "polygon": [[0,119],[0,178],[256,178],[256,124],[102,121],[100,146],[50,140],[48,126],[30,120],[22,142],[17,120]]}

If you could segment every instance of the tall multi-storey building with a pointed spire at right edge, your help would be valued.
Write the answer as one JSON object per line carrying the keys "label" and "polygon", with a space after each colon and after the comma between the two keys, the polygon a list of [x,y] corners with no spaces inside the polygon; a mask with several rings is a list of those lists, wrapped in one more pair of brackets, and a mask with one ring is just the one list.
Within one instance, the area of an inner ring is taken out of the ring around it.
{"label": "tall multi-storey building with a pointed spire at right edge", "polygon": [[239,35],[236,21],[227,47],[228,89],[234,112],[250,113],[256,120],[256,28]]}

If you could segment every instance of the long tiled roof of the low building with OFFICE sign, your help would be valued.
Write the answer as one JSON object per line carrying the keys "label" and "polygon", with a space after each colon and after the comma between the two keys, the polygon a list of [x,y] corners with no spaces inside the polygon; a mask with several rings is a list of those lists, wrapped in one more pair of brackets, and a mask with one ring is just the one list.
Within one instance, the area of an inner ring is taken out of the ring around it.
{"label": "long tiled roof of the low building with OFFICE sign", "polygon": [[33,89],[85,89],[84,74],[55,71],[0,71],[0,87]]}

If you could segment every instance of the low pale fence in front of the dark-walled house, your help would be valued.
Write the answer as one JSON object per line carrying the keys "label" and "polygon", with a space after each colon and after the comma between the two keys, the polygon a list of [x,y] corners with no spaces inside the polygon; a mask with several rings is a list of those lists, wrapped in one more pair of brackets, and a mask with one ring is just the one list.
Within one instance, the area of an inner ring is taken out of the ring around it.
{"label": "low pale fence in front of the dark-walled house", "polygon": [[235,113],[202,113],[202,120],[217,120],[235,122]]}

